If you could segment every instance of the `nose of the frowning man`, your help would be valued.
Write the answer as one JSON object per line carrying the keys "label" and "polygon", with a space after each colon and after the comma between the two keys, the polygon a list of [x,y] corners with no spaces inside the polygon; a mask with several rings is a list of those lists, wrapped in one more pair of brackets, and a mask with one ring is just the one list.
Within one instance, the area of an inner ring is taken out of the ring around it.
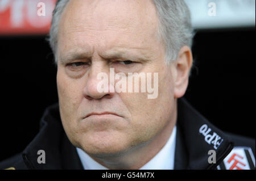
{"label": "nose of the frowning man", "polygon": [[114,85],[110,83],[108,66],[105,66],[102,62],[95,62],[89,69],[88,79],[83,90],[84,97],[93,100],[112,98],[114,94]]}

